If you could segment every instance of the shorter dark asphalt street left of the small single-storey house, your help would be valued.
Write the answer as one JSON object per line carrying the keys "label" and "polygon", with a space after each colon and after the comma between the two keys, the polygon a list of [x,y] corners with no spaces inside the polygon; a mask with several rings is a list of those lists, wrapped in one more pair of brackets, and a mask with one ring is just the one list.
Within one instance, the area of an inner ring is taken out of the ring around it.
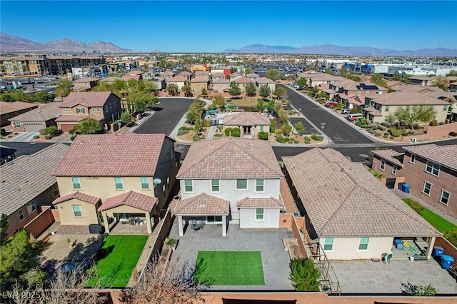
{"label": "shorter dark asphalt street left of the small single-storey house", "polygon": [[165,133],[171,131],[179,123],[184,113],[194,102],[192,98],[159,98],[160,103],[154,107],[154,115],[141,124],[134,133]]}

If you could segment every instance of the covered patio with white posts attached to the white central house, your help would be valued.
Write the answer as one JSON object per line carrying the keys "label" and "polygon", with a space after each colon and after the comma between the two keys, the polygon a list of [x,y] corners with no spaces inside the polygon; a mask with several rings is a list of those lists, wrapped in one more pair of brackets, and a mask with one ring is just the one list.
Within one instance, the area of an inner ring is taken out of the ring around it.
{"label": "covered patio with white posts attached to the white central house", "polygon": [[222,236],[227,235],[227,216],[230,214],[230,202],[216,196],[201,193],[198,196],[176,200],[170,204],[171,214],[176,216],[179,236],[184,236],[184,225],[194,231],[205,223],[222,226]]}

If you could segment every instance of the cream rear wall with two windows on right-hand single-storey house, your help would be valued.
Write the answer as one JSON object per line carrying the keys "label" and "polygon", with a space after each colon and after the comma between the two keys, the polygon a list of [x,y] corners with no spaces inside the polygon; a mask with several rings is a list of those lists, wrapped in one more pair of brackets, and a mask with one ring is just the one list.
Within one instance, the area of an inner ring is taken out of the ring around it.
{"label": "cream rear wall with two windows on right-hand single-storey house", "polygon": [[[323,248],[324,238],[319,238]],[[333,238],[333,249],[325,250],[329,260],[356,260],[359,258],[381,258],[392,250],[393,237],[370,238],[367,250],[358,250],[360,238]]]}

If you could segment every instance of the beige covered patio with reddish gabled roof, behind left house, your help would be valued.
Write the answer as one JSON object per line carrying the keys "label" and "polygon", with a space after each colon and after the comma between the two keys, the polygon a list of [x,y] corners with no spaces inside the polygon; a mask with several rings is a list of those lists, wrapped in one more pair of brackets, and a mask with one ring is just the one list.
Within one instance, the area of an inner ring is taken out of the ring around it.
{"label": "beige covered patio with reddish gabled roof, behind left house", "polygon": [[157,198],[134,191],[106,199],[99,211],[103,216],[106,233],[110,233],[119,223],[125,223],[133,226],[146,225],[147,232],[151,234],[154,216],[160,216]]}

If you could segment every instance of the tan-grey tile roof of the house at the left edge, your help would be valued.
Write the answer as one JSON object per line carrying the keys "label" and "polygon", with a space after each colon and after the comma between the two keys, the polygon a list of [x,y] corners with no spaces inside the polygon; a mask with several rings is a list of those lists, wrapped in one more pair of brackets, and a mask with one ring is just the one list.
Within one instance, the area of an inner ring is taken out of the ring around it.
{"label": "tan-grey tile roof of the house at the left edge", "polygon": [[7,216],[39,196],[57,181],[52,172],[69,146],[56,143],[0,166],[0,213]]}

